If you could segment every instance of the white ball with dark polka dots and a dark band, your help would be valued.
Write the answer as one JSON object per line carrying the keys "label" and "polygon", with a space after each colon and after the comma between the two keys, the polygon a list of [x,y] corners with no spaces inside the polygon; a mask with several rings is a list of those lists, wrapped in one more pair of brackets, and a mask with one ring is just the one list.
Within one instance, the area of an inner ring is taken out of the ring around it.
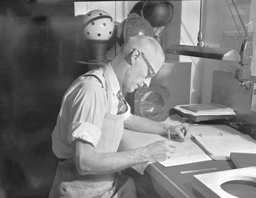
{"label": "white ball with dark polka dots and a dark band", "polygon": [[103,10],[92,10],[82,18],[82,34],[89,40],[110,40],[114,27],[113,18]]}

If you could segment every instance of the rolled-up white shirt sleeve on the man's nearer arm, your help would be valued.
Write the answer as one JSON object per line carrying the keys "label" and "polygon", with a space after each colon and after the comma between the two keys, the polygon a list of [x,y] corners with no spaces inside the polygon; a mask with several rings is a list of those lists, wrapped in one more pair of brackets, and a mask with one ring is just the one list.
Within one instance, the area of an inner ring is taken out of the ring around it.
{"label": "rolled-up white shirt sleeve on the man's nearer arm", "polygon": [[96,147],[108,104],[105,90],[97,83],[82,81],[72,92],[69,103],[68,142],[79,138]]}

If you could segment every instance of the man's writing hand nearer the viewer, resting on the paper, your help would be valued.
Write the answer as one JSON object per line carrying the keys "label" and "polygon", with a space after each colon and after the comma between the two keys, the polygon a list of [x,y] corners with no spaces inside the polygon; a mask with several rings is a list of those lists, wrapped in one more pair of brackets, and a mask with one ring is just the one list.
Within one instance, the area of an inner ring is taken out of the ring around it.
{"label": "man's writing hand nearer the viewer, resting on the paper", "polygon": [[175,147],[174,141],[157,141],[143,147],[142,155],[146,156],[148,162],[162,162],[173,156]]}

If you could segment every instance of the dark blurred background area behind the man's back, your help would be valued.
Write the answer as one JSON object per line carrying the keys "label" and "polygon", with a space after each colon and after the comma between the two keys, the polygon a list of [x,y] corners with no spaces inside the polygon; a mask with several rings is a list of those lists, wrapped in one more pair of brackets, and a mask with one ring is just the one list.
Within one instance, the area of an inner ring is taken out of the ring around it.
{"label": "dark blurred background area behind the man's back", "polygon": [[73,1],[0,1],[0,197],[48,197],[62,95],[87,72],[79,27]]}

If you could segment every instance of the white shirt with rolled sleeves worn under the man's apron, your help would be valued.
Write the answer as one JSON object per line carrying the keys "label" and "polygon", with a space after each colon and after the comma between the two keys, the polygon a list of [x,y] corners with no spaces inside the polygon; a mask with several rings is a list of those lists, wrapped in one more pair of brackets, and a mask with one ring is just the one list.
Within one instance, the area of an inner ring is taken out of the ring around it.
{"label": "white shirt with rolled sleeves worn under the man's apron", "polygon": [[[117,77],[110,64],[106,64],[112,86],[111,114],[117,114],[119,100],[116,96],[120,90]],[[69,159],[73,156],[71,142],[77,138],[92,143],[96,147],[105,113],[108,109],[106,82],[102,68],[90,71],[99,77],[101,83],[93,76],[77,78],[62,98],[57,123],[52,134],[52,149],[58,158]],[[131,115],[128,111],[122,114],[123,120]]]}

